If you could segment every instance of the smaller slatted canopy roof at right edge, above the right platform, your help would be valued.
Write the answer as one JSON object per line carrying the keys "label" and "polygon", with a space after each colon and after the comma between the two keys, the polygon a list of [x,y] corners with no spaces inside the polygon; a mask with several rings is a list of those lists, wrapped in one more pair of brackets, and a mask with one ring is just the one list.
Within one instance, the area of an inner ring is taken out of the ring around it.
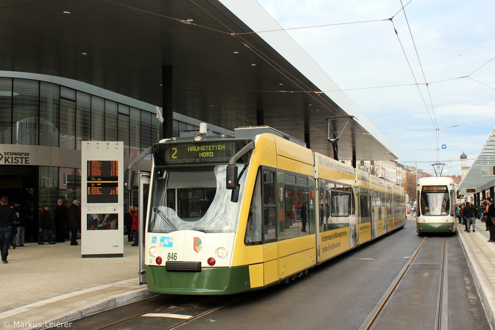
{"label": "smaller slatted canopy roof at right edge, above the right platform", "polygon": [[[485,145],[469,167],[457,192],[481,192],[495,186],[495,128],[490,133]],[[467,189],[474,189],[468,191]],[[494,197],[494,196],[492,196]]]}

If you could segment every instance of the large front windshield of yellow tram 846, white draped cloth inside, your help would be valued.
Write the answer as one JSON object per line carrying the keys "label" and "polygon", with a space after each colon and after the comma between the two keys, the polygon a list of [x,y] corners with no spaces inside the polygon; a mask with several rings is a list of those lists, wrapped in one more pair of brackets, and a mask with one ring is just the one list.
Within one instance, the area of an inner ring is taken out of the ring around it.
{"label": "large front windshield of yellow tram 846, white draped cloth inside", "polygon": [[[239,173],[247,165],[239,165]],[[155,169],[148,231],[233,233],[243,189],[226,189],[227,165]],[[244,186],[246,176],[239,185]],[[239,193],[239,196],[236,194]],[[234,201],[233,201],[234,200]]]}

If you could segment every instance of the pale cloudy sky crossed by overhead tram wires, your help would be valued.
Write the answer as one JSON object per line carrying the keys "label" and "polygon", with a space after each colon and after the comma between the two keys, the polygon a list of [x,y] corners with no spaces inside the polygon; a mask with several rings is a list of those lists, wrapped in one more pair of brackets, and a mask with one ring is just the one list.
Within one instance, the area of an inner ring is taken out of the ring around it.
{"label": "pale cloudy sky crossed by overhead tram wires", "polygon": [[398,162],[460,175],[460,154],[476,158],[495,126],[495,1],[257,2],[392,141]]}

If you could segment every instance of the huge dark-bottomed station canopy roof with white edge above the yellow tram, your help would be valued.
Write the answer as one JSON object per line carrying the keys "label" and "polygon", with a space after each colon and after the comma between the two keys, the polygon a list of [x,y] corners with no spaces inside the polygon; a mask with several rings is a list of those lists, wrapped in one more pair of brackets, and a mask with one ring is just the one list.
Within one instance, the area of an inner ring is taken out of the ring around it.
{"label": "huge dark-bottomed station canopy roof with white edge above the yellow tram", "polygon": [[267,125],[306,135],[332,157],[330,122],[330,138],[342,134],[339,159],[397,159],[254,0],[2,0],[0,45],[2,71],[73,79],[160,107],[162,67],[172,67],[177,113],[232,131]]}

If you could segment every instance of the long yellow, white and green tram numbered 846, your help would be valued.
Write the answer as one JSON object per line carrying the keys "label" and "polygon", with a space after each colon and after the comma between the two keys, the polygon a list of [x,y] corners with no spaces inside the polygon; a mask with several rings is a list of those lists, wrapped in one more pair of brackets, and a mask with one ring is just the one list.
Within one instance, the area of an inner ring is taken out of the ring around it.
{"label": "long yellow, white and green tram numbered 846", "polygon": [[158,293],[288,282],[405,225],[402,188],[272,133],[153,145],[148,203],[146,276]]}

